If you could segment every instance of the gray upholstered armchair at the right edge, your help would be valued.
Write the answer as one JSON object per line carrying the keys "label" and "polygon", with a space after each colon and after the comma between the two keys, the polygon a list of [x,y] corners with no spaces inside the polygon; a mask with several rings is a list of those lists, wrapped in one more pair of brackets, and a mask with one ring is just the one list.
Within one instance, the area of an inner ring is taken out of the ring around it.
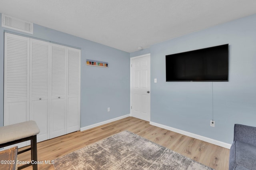
{"label": "gray upholstered armchair at the right edge", "polygon": [[229,170],[256,170],[256,127],[235,124]]}

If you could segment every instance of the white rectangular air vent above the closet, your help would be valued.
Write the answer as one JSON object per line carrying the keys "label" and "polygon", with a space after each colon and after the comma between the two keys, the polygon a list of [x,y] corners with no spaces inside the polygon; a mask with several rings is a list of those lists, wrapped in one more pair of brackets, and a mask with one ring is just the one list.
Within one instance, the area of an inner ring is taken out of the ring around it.
{"label": "white rectangular air vent above the closet", "polygon": [[2,14],[2,27],[33,34],[33,23]]}

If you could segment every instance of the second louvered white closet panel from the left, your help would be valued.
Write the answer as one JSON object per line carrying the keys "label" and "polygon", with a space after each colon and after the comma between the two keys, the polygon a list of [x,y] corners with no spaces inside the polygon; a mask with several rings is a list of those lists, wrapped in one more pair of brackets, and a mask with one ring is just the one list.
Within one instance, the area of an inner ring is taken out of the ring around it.
{"label": "second louvered white closet panel from the left", "polygon": [[50,43],[30,40],[30,120],[40,128],[37,141],[49,139]]}

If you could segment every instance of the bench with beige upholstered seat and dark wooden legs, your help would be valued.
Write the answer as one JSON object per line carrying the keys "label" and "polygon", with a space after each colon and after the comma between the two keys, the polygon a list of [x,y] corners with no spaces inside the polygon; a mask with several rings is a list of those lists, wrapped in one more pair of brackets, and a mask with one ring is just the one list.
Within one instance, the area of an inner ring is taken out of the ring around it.
{"label": "bench with beige upholstered seat and dark wooden legs", "polygon": [[[36,134],[40,132],[35,121],[26,121],[0,127],[0,148],[31,140],[31,147],[19,151],[18,154],[31,150],[31,160],[37,161]],[[33,170],[37,170],[37,164],[25,164],[18,167],[18,170],[32,165]]]}

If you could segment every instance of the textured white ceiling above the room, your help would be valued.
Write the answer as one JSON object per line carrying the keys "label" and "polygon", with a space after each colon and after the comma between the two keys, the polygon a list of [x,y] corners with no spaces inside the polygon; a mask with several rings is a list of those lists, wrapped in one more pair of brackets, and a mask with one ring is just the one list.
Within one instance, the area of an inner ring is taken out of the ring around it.
{"label": "textured white ceiling above the room", "polygon": [[256,14],[256,0],[0,0],[0,13],[133,52]]}

